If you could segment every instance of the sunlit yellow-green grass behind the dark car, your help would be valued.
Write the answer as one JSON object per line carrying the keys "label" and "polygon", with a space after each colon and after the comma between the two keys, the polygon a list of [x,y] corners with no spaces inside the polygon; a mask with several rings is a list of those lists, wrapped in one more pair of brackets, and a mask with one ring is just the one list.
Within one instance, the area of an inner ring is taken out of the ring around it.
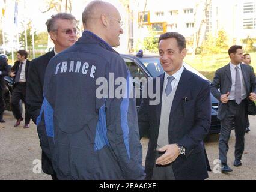
{"label": "sunlit yellow-green grass behind the dark car", "polygon": [[[249,54],[252,58],[251,66],[254,67],[254,70],[256,71],[256,52]],[[207,79],[213,80],[215,71],[218,70],[218,68],[227,65],[230,62],[230,58],[228,54],[224,53],[195,56],[187,55],[186,58],[184,58],[184,61],[200,71],[200,73],[206,76]]]}

